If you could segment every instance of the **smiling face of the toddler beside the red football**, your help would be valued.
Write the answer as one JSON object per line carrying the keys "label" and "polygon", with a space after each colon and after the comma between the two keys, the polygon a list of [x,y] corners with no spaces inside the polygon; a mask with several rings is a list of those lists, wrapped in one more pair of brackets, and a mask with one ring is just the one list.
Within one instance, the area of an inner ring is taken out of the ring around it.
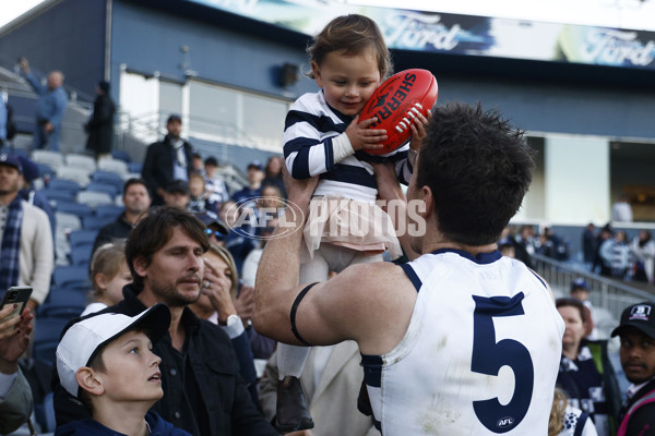
{"label": "smiling face of the toddler beside the red football", "polygon": [[320,65],[312,61],[311,69],[327,105],[350,117],[364,109],[381,78],[372,47],[355,56],[332,51]]}

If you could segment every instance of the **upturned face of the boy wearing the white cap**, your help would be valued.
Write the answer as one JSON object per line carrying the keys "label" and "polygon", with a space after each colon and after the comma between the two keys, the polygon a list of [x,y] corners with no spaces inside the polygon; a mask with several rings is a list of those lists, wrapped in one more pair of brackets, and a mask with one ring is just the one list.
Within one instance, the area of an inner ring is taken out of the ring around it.
{"label": "upturned face of the boy wearing the white cap", "polygon": [[105,371],[96,372],[107,399],[154,403],[164,396],[162,359],[152,348],[151,340],[141,331],[128,331],[109,342],[102,354]]}

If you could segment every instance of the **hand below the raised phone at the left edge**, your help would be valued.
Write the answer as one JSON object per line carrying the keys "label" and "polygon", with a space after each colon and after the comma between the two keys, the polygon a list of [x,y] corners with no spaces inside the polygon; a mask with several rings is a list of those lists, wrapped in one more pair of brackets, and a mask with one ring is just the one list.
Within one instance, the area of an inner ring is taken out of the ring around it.
{"label": "hand below the raised phone at the left edge", "polygon": [[27,350],[29,344],[34,315],[28,308],[25,308],[21,316],[7,319],[9,313],[14,308],[12,306],[5,308],[10,308],[10,311],[0,311],[0,319],[2,320],[0,323],[0,329],[2,329],[2,334],[0,334],[0,338],[2,338],[0,339],[0,372],[13,374],[17,371],[19,358]]}

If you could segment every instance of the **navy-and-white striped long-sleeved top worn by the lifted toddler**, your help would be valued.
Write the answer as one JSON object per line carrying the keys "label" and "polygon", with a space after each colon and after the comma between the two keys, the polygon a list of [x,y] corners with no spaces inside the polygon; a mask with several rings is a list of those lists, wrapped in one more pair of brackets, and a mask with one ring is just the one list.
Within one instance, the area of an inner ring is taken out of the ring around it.
{"label": "navy-and-white striped long-sleeved top worn by the lifted toddler", "polygon": [[[374,202],[378,195],[373,167],[368,161],[382,157],[357,152],[335,161],[332,140],[344,133],[352,117],[331,108],[323,92],[298,98],[286,116],[284,126],[284,158],[289,173],[296,179],[321,174],[314,195],[345,196]],[[412,177],[407,161],[408,145],[384,155],[396,165],[402,183]],[[368,161],[367,161],[368,160]]]}

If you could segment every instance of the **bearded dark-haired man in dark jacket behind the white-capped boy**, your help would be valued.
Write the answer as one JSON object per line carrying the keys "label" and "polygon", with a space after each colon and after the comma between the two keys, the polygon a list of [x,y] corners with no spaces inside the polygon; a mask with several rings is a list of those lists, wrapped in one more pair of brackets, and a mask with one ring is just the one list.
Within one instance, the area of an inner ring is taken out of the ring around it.
{"label": "bearded dark-haired man in dark jacket behind the white-capped boy", "polygon": [[[164,398],[152,411],[192,435],[275,435],[252,403],[229,338],[188,307],[200,296],[204,226],[177,207],[154,208],[130,233],[126,257],[134,281],[124,299],[102,313],[135,316],[156,303],[171,313],[168,334],[153,352],[160,364]],[[88,416],[70,395],[56,390],[59,425]]]}

